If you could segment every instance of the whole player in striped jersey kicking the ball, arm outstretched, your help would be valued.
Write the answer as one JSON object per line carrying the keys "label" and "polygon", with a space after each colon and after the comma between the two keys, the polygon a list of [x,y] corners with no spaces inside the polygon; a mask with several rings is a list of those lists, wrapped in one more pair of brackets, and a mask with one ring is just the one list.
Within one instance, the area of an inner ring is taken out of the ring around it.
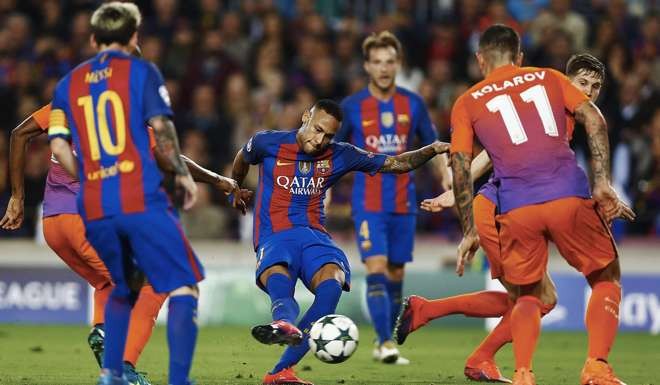
{"label": "whole player in striped jersey kicking the ball, arm outstretched", "polygon": [[[292,366],[309,349],[310,325],[333,313],[342,289],[350,288],[346,255],[324,227],[327,189],[351,171],[405,173],[447,151],[446,143],[434,142],[396,156],[367,152],[332,141],[341,120],[337,103],[320,100],[305,112],[300,129],[258,133],[234,159],[232,178],[239,184],[250,165],[259,165],[256,281],[271,298],[273,322],[255,326],[252,335],[266,344],[296,345],[284,352],[263,384],[306,383],[296,377]],[[299,308],[293,293],[299,278],[315,300],[296,328]]]}

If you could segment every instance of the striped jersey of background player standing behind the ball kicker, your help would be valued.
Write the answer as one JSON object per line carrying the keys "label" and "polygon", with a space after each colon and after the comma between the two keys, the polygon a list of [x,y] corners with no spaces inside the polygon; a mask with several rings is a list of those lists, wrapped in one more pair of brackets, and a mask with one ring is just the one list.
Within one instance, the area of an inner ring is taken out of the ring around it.
{"label": "striped jersey of background player standing behind the ball kicker", "polygon": [[[350,142],[377,154],[398,155],[412,149],[414,138],[421,145],[437,139],[435,127],[422,99],[397,87],[388,101],[371,96],[368,88],[342,102],[344,121],[336,142]],[[417,212],[414,174],[355,175],[353,212]]]}

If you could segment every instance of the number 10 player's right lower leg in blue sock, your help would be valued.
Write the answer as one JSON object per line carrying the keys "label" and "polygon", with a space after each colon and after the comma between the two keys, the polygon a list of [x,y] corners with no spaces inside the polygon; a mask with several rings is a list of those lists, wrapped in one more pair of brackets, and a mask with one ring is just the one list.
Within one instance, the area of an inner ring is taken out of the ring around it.
{"label": "number 10 player's right lower leg in blue sock", "polygon": [[197,286],[170,292],[167,314],[167,343],[170,347],[170,385],[188,385],[197,342]]}

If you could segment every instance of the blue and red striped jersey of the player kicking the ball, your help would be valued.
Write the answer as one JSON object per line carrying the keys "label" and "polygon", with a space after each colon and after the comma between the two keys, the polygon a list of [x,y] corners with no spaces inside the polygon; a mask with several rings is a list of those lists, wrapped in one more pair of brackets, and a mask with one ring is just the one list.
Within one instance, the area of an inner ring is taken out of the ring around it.
{"label": "blue and red striped jersey of the player kicking the ball", "polygon": [[270,235],[294,227],[326,232],[323,198],[344,174],[375,174],[386,156],[347,143],[331,143],[320,155],[304,153],[296,142],[297,131],[264,131],[243,147],[243,157],[259,165],[255,202],[255,249]]}

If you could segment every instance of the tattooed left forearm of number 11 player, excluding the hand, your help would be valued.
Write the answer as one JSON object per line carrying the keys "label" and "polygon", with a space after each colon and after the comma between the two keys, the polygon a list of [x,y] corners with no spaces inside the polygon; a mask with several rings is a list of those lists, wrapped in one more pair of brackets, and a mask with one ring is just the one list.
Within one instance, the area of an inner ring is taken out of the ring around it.
{"label": "tattooed left forearm of number 11 player, excluding the hand", "polygon": [[472,156],[462,152],[451,154],[451,170],[454,175],[454,197],[458,217],[461,221],[463,234],[468,234],[474,229],[474,217],[472,215],[472,177],[470,163]]}

